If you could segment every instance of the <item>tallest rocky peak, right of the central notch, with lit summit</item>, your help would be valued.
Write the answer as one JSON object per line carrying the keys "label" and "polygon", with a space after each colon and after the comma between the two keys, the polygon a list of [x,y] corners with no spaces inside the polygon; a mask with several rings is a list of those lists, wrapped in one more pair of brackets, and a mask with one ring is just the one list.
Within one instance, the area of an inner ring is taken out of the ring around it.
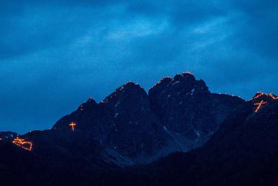
{"label": "tallest rocky peak, right of the central notch, with lit summit", "polygon": [[185,150],[203,145],[220,123],[244,101],[211,93],[190,73],[166,77],[150,88],[150,105],[168,131],[183,137]]}

